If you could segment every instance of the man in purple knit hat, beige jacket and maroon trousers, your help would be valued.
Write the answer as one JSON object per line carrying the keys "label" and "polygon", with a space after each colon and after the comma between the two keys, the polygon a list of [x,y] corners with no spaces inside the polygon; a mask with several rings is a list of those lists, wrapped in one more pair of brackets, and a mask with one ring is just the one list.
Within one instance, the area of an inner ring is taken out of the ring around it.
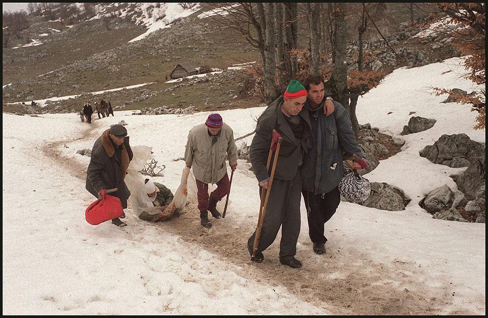
{"label": "man in purple knit hat, beige jacket and maroon trousers", "polygon": [[[208,220],[208,211],[216,219],[222,215],[217,211],[219,202],[230,191],[230,181],[225,164],[225,155],[229,160],[230,168],[237,168],[237,147],[234,142],[232,128],[224,124],[221,115],[210,114],[204,124],[191,128],[184,159],[186,166],[193,166],[198,189],[198,210],[200,210],[200,223],[210,228],[212,223]],[[208,196],[208,184],[217,184],[217,189]]]}

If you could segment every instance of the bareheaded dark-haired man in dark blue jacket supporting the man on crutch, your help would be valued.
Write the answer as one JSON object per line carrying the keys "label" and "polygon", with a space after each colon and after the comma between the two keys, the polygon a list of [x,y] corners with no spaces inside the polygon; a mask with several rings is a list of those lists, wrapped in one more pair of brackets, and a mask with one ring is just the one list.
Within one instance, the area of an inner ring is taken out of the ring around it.
{"label": "bareheaded dark-haired man in dark blue jacket supporting the man on crutch", "polygon": [[[302,165],[303,197],[307,210],[308,234],[313,242],[313,251],[325,253],[324,224],[337,210],[341,197],[338,189],[343,177],[343,150],[349,154],[363,153],[352,130],[349,115],[344,106],[334,101],[333,114],[327,116],[322,106],[327,99],[324,82],[320,75],[310,76],[304,82],[307,101],[304,109],[310,116],[311,136]],[[361,159],[353,169],[366,167]]]}

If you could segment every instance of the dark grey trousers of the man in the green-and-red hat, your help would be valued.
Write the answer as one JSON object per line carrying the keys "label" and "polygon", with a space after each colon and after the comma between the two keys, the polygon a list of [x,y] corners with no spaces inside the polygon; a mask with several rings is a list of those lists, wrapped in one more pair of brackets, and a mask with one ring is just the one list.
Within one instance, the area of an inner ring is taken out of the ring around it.
{"label": "dark grey trousers of the man in the green-and-red hat", "polygon": [[[297,171],[293,180],[273,179],[268,205],[264,213],[263,229],[261,230],[257,254],[262,253],[274,242],[280,227],[282,227],[280,260],[287,261],[295,256],[298,235],[300,234],[301,192],[302,176],[300,170]],[[251,255],[255,236],[256,231],[247,240],[247,249]]]}

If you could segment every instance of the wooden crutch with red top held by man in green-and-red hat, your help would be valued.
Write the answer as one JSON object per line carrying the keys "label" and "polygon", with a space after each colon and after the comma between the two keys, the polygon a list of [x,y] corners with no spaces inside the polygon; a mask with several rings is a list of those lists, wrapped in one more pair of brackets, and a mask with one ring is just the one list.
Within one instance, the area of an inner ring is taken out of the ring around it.
{"label": "wooden crutch with red top held by man in green-and-red hat", "polygon": [[271,146],[269,147],[268,161],[266,163],[266,170],[268,170],[268,171],[269,171],[269,163],[271,162],[271,155],[272,155],[273,150],[275,148],[276,148],[276,152],[275,152],[275,157],[273,160],[273,166],[271,168],[271,175],[269,177],[268,189],[263,188],[263,190],[261,191],[261,201],[260,201],[260,205],[259,205],[258,226],[256,227],[256,235],[254,236],[254,244],[252,247],[251,260],[254,260],[256,258],[256,251],[258,250],[259,239],[261,237],[261,230],[263,229],[264,213],[266,212],[266,207],[268,205],[269,193],[271,192],[271,185],[273,184],[273,177],[274,177],[274,172],[276,169],[276,162],[278,161],[278,154],[280,153],[280,146],[281,146],[282,141],[283,141],[283,138],[280,136],[278,131],[273,129],[273,139],[271,141]]}

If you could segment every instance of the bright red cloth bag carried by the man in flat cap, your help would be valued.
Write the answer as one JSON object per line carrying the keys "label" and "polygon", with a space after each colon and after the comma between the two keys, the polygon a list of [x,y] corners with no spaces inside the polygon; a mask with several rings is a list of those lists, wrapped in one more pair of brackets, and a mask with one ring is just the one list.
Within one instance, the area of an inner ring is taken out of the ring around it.
{"label": "bright red cloth bag carried by the man in flat cap", "polygon": [[121,200],[112,195],[105,194],[102,190],[102,198],[90,204],[85,211],[86,222],[98,225],[123,215]]}

